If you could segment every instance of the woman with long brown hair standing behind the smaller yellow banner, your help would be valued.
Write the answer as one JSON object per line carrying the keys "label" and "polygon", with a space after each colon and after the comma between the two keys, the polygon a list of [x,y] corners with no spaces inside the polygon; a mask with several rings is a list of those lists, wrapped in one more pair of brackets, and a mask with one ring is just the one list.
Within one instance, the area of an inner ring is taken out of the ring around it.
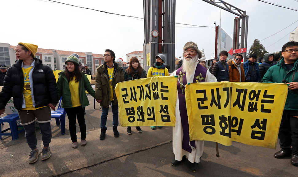
{"label": "woman with long brown hair standing behind the smaller yellow banner", "polygon": [[[131,57],[129,60],[129,67],[125,70],[125,73],[124,73],[124,80],[130,81],[130,80],[141,79],[146,77],[147,77],[146,71],[143,70],[139,62],[139,59],[136,57]],[[135,129],[137,129],[139,133],[142,133],[142,130],[139,126],[136,126]],[[127,127],[127,134],[131,134],[130,126]]]}

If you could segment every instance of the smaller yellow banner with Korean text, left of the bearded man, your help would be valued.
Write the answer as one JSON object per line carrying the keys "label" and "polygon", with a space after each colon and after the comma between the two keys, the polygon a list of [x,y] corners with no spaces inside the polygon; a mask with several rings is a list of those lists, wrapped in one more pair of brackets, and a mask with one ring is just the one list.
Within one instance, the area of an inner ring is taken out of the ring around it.
{"label": "smaller yellow banner with Korean text, left of the bearded man", "polygon": [[175,126],[177,78],[148,77],[115,88],[121,126]]}

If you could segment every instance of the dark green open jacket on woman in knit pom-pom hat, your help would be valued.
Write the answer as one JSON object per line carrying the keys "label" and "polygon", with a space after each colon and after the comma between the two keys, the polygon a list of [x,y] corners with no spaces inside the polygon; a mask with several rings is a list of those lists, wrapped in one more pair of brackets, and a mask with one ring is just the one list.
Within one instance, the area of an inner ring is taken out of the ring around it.
{"label": "dark green open jacket on woman in knit pom-pom hat", "polygon": [[[87,76],[84,74],[84,71],[82,71],[81,73],[82,73],[82,77],[79,81],[80,103],[82,104],[82,107],[86,107],[89,105],[89,101],[86,96],[85,89],[93,97],[95,97],[95,91],[93,90]],[[69,89],[69,82],[65,74],[66,74],[66,71],[62,71],[59,73],[59,78],[57,81],[58,98],[62,96],[63,108],[70,108],[70,107],[73,107],[73,104],[71,102],[71,92]]]}

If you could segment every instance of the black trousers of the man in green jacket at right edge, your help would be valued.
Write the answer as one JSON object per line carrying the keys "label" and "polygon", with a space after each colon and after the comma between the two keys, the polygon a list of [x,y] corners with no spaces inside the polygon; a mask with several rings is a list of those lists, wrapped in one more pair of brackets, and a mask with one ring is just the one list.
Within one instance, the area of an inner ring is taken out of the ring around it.
{"label": "black trousers of the man in green jacket at right edge", "polygon": [[284,110],[278,136],[282,150],[298,155],[298,111]]}

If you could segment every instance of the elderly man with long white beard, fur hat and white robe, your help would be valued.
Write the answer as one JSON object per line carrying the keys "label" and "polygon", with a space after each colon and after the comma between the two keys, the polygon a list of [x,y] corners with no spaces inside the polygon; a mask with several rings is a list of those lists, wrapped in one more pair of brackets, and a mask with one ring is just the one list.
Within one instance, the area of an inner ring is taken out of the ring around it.
{"label": "elderly man with long white beard, fur hat and white robe", "polygon": [[[188,116],[185,102],[185,86],[195,82],[217,82],[206,68],[198,63],[202,53],[194,42],[187,42],[183,47],[182,67],[175,70],[171,76],[178,76],[176,99],[176,122],[173,127],[173,166],[179,165],[186,158],[190,161],[190,171],[195,172],[203,154],[204,141],[190,141]],[[183,84],[183,85],[182,85]]]}

